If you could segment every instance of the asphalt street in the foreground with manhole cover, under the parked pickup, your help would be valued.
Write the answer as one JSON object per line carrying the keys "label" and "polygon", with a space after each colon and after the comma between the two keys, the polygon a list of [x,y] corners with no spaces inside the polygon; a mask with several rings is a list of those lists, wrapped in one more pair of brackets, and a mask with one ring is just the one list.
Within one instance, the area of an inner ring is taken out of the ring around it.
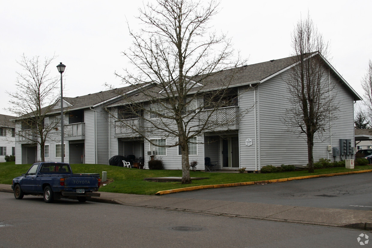
{"label": "asphalt street in the foreground with manhole cover, under the parked pickup", "polygon": [[4,192],[0,202],[0,247],[360,247],[372,237],[347,228],[118,204],[47,204]]}

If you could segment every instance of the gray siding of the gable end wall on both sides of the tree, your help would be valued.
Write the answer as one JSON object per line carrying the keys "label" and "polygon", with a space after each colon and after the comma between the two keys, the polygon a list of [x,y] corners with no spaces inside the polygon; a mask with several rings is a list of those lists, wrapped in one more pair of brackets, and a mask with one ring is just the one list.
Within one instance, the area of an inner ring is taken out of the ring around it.
{"label": "gray siding of the gable end wall on both sides of the tree", "polygon": [[[295,164],[307,165],[307,143],[304,136],[287,132],[283,123],[286,108],[290,107],[288,103],[289,93],[286,91],[282,77],[286,74],[271,78],[260,84],[260,155],[261,167],[264,165]],[[328,75],[325,75],[328,83]],[[336,81],[333,75],[330,75],[331,84],[335,85],[331,94],[337,96],[339,105],[338,119],[331,123],[332,135],[325,133],[323,138],[314,139],[314,161],[319,158],[329,158],[332,161],[340,158],[333,158],[328,153],[327,145],[339,147],[339,139],[354,138],[353,124],[353,97],[350,91]],[[331,139],[331,140],[330,140]],[[345,158],[345,157],[344,157]],[[344,159],[343,158],[343,159]],[[350,157],[349,157],[350,158]]]}

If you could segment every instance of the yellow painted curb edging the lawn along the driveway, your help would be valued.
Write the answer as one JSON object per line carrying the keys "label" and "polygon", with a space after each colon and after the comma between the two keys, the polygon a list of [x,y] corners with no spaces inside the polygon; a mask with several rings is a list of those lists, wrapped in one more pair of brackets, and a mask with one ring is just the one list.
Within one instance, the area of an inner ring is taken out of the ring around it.
{"label": "yellow painted curb edging the lawn along the driveway", "polygon": [[301,179],[316,178],[316,177],[334,177],[336,175],[347,175],[347,174],[357,174],[357,173],[366,173],[366,172],[372,172],[372,170],[347,171],[347,172],[320,174],[320,175],[305,175],[303,177],[289,177],[289,178],[279,178],[279,179],[263,180],[263,181],[251,181],[251,182],[243,182],[243,183],[225,183],[225,184],[200,185],[200,186],[186,187],[186,188],[173,189],[173,190],[162,190],[162,191],[156,192],[155,194],[159,196],[159,195],[162,195],[162,194],[193,191],[193,190],[200,190],[200,189],[236,187],[236,186],[246,186],[246,185],[252,185],[252,184],[260,184],[260,183],[279,183],[279,182],[292,181],[292,180],[301,180]]}

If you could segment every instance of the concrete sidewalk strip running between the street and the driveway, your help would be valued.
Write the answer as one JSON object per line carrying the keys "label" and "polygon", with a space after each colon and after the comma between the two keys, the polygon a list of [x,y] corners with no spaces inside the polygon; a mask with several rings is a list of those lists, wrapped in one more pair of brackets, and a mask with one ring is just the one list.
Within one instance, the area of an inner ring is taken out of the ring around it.
{"label": "concrete sidewalk strip running between the street and the driveway", "polygon": [[[10,184],[0,184],[0,191],[13,193]],[[297,207],[262,203],[175,198],[166,196],[146,196],[108,192],[100,193],[100,197],[92,197],[90,201],[200,213],[215,216],[372,230],[371,210],[365,211]]]}

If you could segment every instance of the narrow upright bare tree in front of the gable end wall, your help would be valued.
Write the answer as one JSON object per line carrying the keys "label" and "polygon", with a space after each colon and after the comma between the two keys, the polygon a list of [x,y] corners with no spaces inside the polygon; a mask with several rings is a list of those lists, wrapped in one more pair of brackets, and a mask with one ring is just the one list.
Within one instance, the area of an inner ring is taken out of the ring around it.
{"label": "narrow upright bare tree in front of the gable end wall", "polygon": [[[315,27],[310,15],[297,22],[292,33],[294,63],[287,83],[291,107],[286,110],[288,131],[298,134],[307,142],[308,169],[314,172],[314,139],[329,135],[331,120],[337,109],[334,88],[328,81],[324,59],[328,55],[328,42]],[[322,58],[323,57],[323,58]],[[329,136],[328,136],[329,137]]]}

